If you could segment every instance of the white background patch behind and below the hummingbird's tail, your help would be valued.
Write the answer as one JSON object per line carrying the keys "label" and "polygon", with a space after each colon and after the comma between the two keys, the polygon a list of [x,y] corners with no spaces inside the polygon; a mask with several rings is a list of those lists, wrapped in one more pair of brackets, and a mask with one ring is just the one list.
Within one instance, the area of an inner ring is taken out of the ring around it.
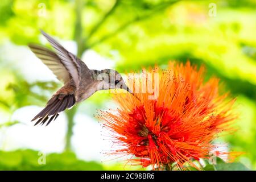
{"label": "white background patch behind and below the hummingbird's tail", "polygon": [[60,114],[51,126],[34,126],[35,122],[31,122],[31,119],[42,109],[38,106],[26,106],[16,110],[11,119],[20,124],[8,127],[2,133],[1,150],[31,148],[41,152],[62,152],[67,131],[65,115]]}

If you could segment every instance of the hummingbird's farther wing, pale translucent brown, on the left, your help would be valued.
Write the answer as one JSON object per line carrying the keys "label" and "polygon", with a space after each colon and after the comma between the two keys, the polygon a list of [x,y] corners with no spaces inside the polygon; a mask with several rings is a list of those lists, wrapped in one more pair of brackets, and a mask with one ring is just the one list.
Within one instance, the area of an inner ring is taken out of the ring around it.
{"label": "hummingbird's farther wing, pale translucent brown, on the left", "polygon": [[28,47],[30,47],[31,51],[51,69],[60,81],[67,83],[71,79],[71,75],[55,52],[36,44],[28,44]]}

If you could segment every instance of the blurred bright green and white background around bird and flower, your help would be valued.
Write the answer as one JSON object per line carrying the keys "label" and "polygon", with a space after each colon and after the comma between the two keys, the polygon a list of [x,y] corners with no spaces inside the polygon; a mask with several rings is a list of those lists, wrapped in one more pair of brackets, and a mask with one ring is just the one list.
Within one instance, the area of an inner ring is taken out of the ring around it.
{"label": "blurred bright green and white background around bird and flower", "polygon": [[31,118],[61,86],[26,46],[47,43],[40,28],[91,69],[205,65],[205,79],[219,77],[240,113],[239,130],[217,142],[245,152],[236,160],[256,169],[254,0],[1,1],[0,169],[134,169],[102,154],[110,146],[93,114],[113,106],[110,94],[98,92],[48,127],[33,127]]}

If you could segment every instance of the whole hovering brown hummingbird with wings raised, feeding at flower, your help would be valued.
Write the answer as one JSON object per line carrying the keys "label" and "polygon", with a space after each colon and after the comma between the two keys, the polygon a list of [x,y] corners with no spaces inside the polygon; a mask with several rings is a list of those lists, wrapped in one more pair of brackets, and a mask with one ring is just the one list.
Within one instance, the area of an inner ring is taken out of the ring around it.
{"label": "whole hovering brown hummingbird with wings raised, feeding at flower", "polygon": [[[64,86],[53,94],[46,107],[32,119],[32,121],[37,120],[35,125],[39,123],[43,125],[46,122],[46,126],[49,125],[61,111],[70,109],[73,105],[86,100],[97,90],[117,88],[125,89],[133,94],[117,71],[113,69],[101,71],[89,69],[83,61],[68,52],[46,32],[41,30],[41,33],[55,49],[55,52],[36,44],[28,44],[28,47],[51,69],[59,80],[64,82]],[[106,79],[101,75],[108,78]],[[114,78],[114,80],[109,78]]]}

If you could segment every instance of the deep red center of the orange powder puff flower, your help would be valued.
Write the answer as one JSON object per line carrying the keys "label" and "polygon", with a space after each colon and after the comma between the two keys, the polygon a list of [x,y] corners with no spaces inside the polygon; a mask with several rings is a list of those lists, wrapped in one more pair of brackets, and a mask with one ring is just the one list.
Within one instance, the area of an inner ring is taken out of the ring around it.
{"label": "deep red center of the orange powder puff flower", "polygon": [[135,134],[134,145],[135,156],[148,157],[151,151],[159,151],[161,153],[163,146],[163,137],[172,133],[174,123],[179,120],[172,116],[171,110],[154,104],[154,117],[148,122],[147,114],[144,106],[139,106],[130,113],[130,133]]}

